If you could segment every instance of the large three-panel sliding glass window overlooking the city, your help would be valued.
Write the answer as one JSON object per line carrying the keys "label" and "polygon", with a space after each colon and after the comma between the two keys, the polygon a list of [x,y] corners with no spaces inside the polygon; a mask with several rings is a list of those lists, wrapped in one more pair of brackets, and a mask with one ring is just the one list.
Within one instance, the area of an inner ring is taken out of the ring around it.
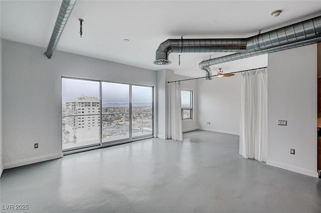
{"label": "large three-panel sliding glass window overlooking the city", "polygon": [[62,78],[64,151],[152,134],[153,87]]}

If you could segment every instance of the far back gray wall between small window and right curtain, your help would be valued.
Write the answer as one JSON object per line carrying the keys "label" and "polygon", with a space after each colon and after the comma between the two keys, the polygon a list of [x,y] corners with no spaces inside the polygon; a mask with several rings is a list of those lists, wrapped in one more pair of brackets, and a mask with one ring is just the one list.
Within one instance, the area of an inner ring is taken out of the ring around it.
{"label": "far back gray wall between small window and right curtain", "polygon": [[241,77],[197,80],[198,129],[240,134]]}

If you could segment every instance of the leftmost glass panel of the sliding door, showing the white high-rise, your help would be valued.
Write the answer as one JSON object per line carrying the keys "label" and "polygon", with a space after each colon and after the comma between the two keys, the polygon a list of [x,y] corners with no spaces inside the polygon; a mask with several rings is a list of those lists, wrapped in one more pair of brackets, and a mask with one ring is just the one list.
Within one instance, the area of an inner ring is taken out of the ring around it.
{"label": "leftmost glass panel of the sliding door, showing the white high-rise", "polygon": [[62,79],[62,149],[100,144],[99,81]]}

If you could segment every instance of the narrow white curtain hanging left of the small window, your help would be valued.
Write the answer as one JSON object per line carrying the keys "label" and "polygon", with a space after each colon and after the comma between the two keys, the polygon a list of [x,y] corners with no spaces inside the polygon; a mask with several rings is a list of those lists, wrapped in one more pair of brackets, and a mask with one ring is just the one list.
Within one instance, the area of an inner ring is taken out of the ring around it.
{"label": "narrow white curtain hanging left of the small window", "polygon": [[182,111],[181,111],[181,83],[168,84],[169,90],[169,138],[183,140]]}

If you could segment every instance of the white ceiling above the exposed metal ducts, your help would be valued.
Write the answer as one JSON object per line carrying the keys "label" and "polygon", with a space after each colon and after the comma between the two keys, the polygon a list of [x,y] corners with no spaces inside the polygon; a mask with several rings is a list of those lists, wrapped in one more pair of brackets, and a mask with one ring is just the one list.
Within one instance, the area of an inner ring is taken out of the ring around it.
{"label": "white ceiling above the exposed metal ducts", "polygon": [[[47,47],[61,1],[1,1],[3,39]],[[270,13],[283,10],[278,18]],[[171,69],[200,77],[202,60],[226,55],[171,54],[159,66],[155,51],[167,39],[246,38],[319,16],[320,1],[77,1],[57,50],[150,70]],[[78,18],[84,19],[83,38]],[[129,39],[126,43],[123,39]],[[55,53],[54,53],[55,54]],[[55,57],[55,56],[53,56]],[[263,67],[267,56],[212,66],[225,72]],[[214,72],[213,72],[214,74]]]}

